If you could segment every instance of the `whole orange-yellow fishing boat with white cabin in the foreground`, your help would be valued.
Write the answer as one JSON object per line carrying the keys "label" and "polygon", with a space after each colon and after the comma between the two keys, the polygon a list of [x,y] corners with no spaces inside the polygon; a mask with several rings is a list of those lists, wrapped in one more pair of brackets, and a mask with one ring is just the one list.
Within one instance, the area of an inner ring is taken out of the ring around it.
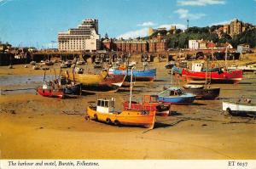
{"label": "whole orange-yellow fishing boat with white cabin in the foreground", "polygon": [[98,99],[96,106],[90,105],[85,115],[86,120],[103,121],[114,125],[129,125],[154,128],[155,110],[117,111],[115,99]]}

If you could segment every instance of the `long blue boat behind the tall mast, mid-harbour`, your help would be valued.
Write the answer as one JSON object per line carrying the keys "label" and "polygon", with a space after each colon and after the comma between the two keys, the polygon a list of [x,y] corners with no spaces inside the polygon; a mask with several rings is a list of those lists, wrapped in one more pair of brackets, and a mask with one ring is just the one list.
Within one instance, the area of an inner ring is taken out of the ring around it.
{"label": "long blue boat behind the tall mast, mid-harbour", "polygon": [[[131,69],[127,70],[109,70],[114,75],[127,75],[127,79],[130,79],[131,76]],[[135,76],[136,81],[154,81],[156,76],[156,69],[149,69],[149,70],[133,70],[132,72],[133,76]]]}

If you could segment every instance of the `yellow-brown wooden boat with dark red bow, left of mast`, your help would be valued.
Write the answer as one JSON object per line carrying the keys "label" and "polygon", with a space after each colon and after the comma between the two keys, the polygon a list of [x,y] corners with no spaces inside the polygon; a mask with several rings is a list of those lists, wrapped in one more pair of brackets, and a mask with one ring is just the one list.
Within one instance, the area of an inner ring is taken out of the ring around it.
{"label": "yellow-brown wooden boat with dark red bow, left of mast", "polygon": [[107,71],[102,71],[98,75],[74,74],[67,78],[71,81],[81,83],[82,89],[87,92],[116,92],[125,81],[125,75],[108,75]]}

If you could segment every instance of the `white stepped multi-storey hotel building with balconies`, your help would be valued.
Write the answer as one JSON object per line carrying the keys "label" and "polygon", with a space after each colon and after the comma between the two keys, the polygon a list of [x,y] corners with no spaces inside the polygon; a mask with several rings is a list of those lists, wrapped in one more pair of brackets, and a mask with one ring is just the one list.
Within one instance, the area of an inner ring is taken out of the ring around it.
{"label": "white stepped multi-storey hotel building with balconies", "polygon": [[100,48],[99,40],[98,20],[87,19],[78,28],[58,33],[58,49],[67,52],[93,52]]}

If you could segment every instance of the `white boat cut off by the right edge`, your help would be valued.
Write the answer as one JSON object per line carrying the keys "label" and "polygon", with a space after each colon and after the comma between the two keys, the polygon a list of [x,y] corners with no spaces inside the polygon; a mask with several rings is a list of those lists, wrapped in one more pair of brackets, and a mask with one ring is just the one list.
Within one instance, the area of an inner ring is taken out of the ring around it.
{"label": "white boat cut off by the right edge", "polygon": [[256,115],[256,104],[251,103],[251,99],[243,99],[236,101],[224,101],[222,110],[227,111],[230,115]]}

